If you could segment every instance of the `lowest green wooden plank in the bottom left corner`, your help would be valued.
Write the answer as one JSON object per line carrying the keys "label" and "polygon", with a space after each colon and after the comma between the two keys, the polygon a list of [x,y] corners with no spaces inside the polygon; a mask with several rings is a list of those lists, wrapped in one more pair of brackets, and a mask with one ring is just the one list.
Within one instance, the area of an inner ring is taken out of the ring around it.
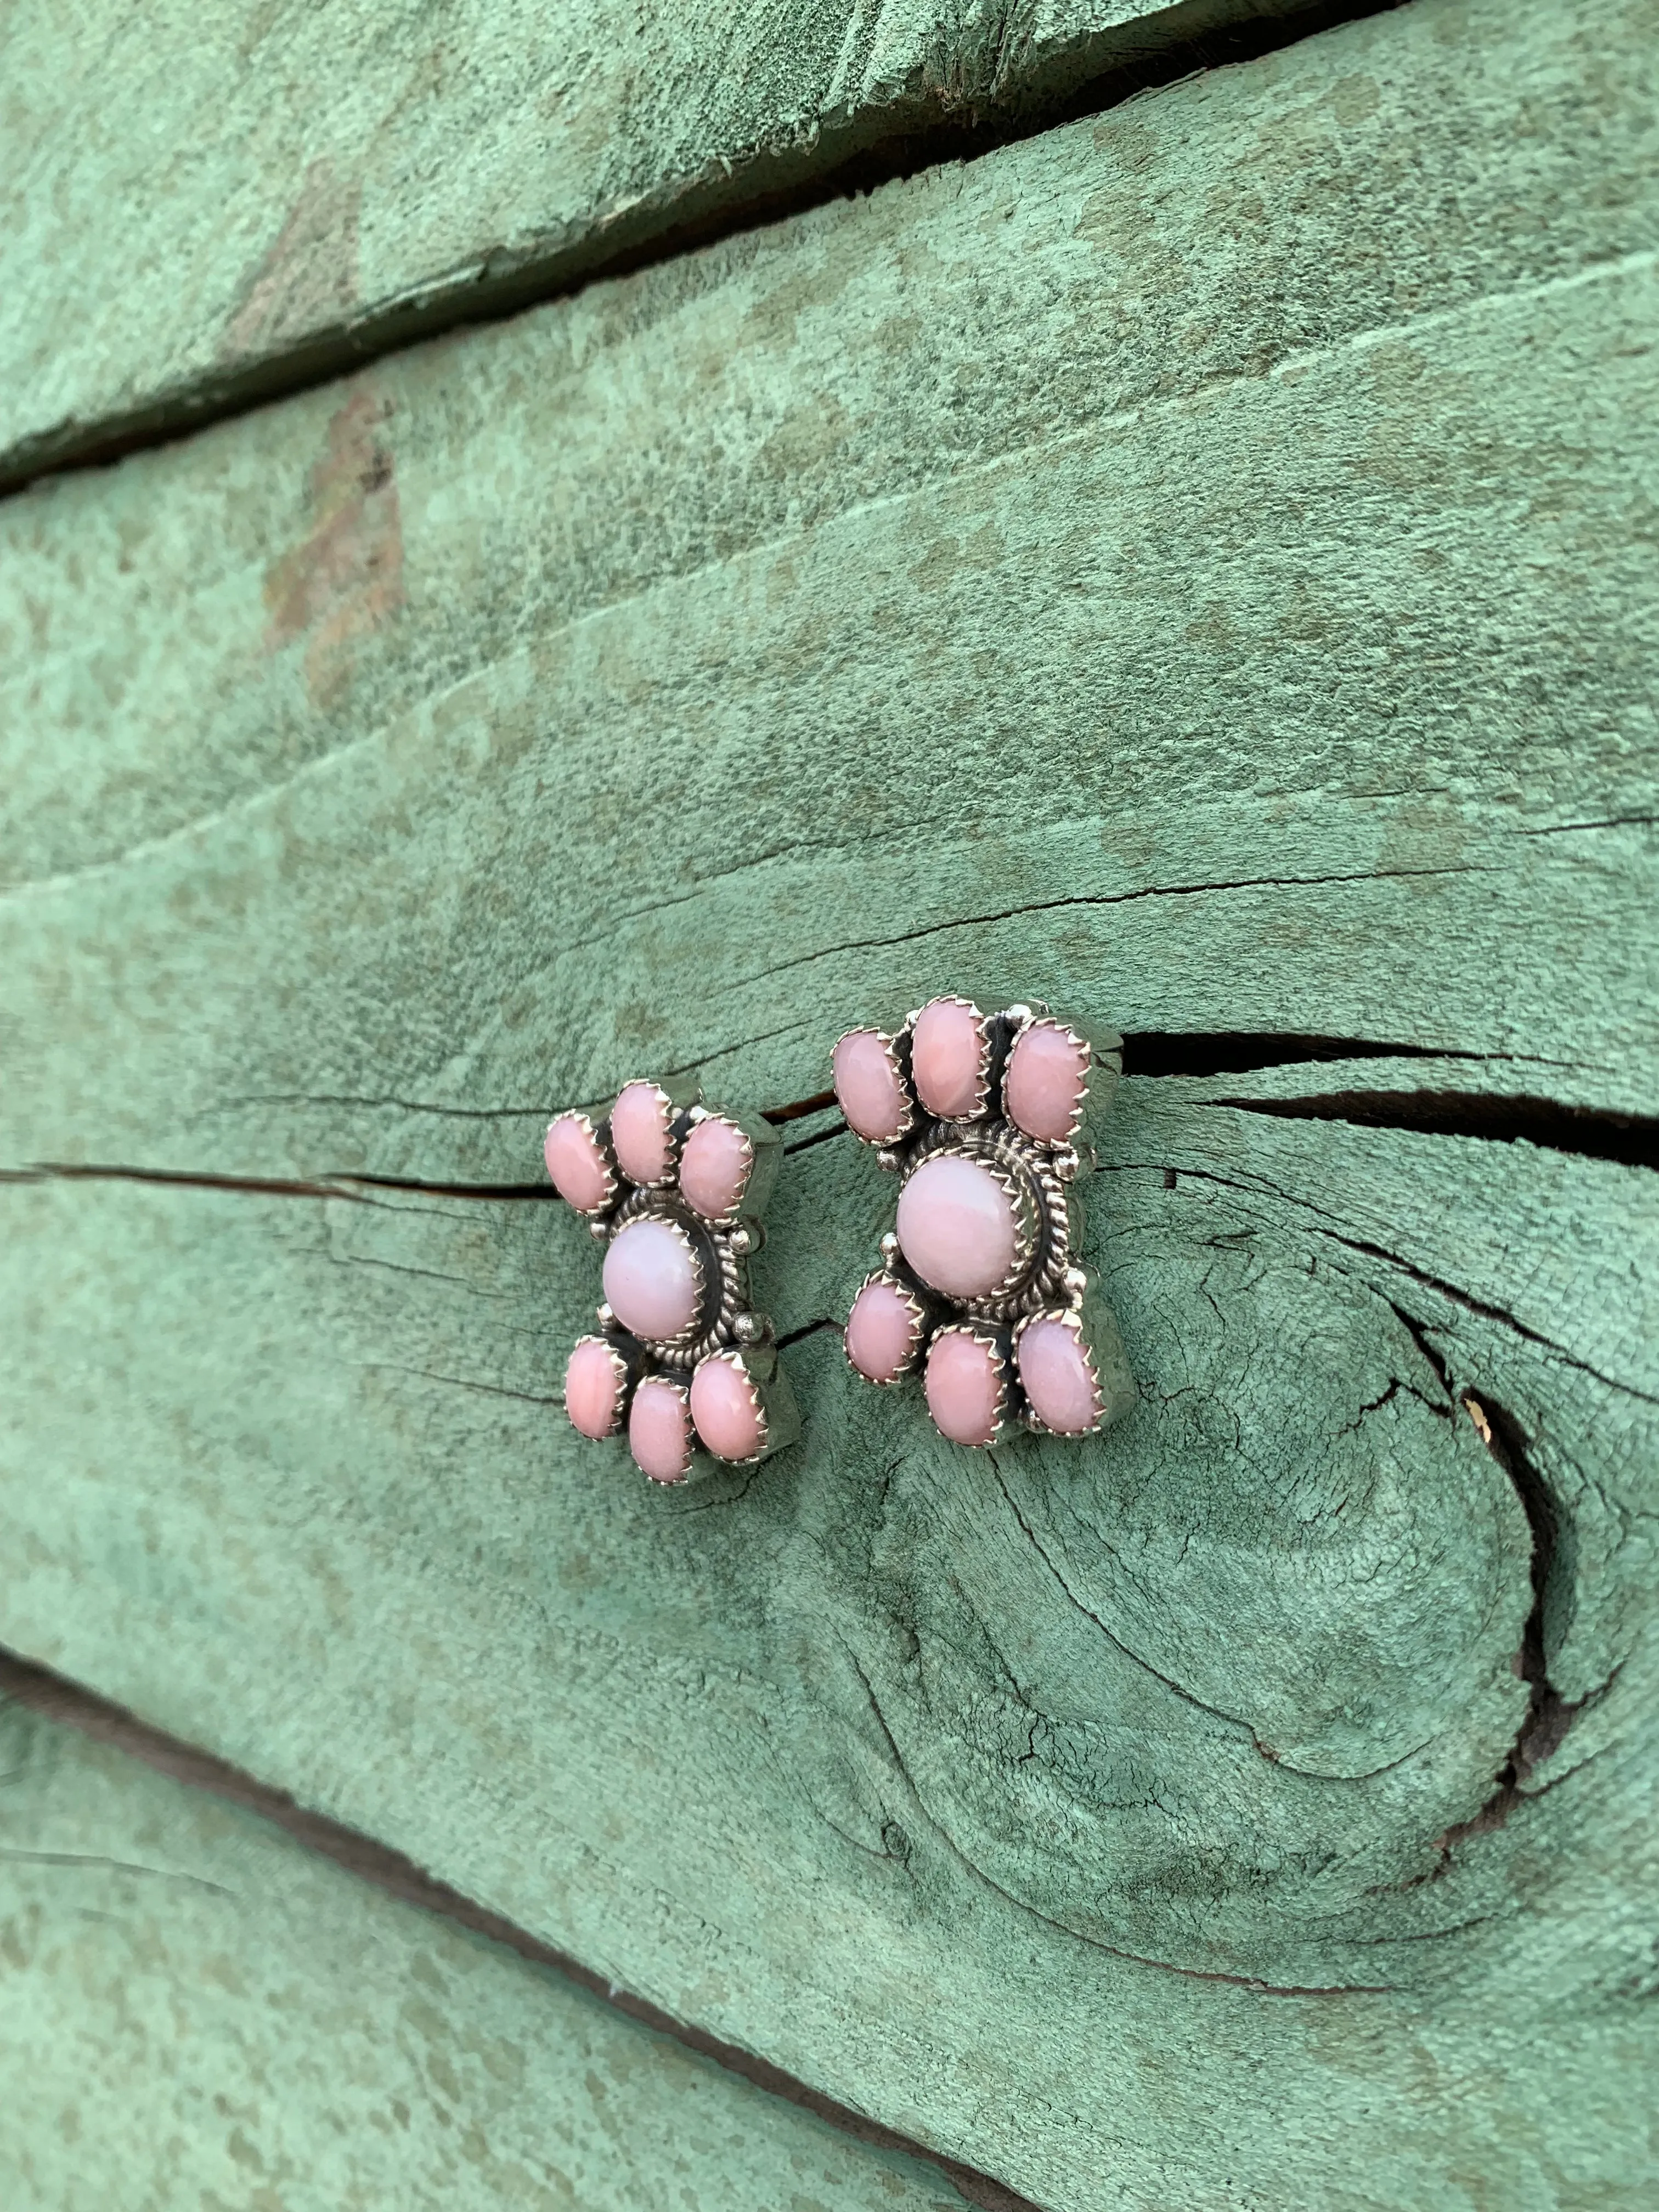
{"label": "lowest green wooden plank in the bottom left corner", "polygon": [[958,2212],[876,2150],[252,1814],[0,1708],[13,2212]]}

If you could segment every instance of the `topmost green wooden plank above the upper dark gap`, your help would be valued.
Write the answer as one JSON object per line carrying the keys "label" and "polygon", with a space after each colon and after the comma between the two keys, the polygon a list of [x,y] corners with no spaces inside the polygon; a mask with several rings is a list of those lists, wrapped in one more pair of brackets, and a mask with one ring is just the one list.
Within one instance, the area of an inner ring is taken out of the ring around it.
{"label": "topmost green wooden plank above the upper dark gap", "polygon": [[0,484],[1310,0],[22,0]]}

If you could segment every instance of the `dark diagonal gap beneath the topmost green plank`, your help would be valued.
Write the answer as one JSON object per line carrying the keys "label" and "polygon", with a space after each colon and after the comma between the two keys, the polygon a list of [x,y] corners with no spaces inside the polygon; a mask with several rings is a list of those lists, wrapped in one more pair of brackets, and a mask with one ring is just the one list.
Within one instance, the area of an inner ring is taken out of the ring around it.
{"label": "dark diagonal gap beneath the topmost green plank", "polygon": [[[1248,0],[1259,7],[1263,0]],[[509,268],[469,272],[427,288],[418,301],[389,301],[361,321],[314,332],[276,358],[204,378],[186,392],[102,422],[24,438],[0,462],[0,500],[40,478],[104,469],[128,453],[190,438],[215,422],[274,400],[314,392],[389,354],[484,323],[500,323],[588,285],[655,268],[792,221],[836,199],[860,199],[885,184],[949,161],[978,161],[1002,146],[1137,100],[1183,77],[1254,62],[1345,22],[1385,15],[1409,0],[1310,0],[1290,13],[1239,20],[1237,0],[1177,0],[1152,24],[1137,20],[1079,40],[987,108],[958,113],[933,95],[852,115],[810,146],[757,153],[717,177],[653,201],[602,232],[529,252]],[[1139,40],[1139,44],[1130,44]]]}

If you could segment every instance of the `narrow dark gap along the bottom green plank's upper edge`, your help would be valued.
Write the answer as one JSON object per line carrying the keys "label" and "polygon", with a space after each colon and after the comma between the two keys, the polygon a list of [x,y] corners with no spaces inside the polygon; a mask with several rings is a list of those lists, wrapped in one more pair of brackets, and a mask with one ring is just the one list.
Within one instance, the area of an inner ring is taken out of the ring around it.
{"label": "narrow dark gap along the bottom green plank's upper edge", "polygon": [[232,1767],[223,1759],[215,1759],[212,1752],[195,1750],[195,1745],[179,1743],[175,1736],[150,1728],[139,1721],[137,1714],[128,1712],[124,1705],[115,1705],[108,1699],[95,1697],[91,1690],[80,1688],[80,1683],[66,1681],[62,1674],[53,1674],[49,1668],[35,1666],[31,1659],[20,1659],[15,1652],[0,1650],[0,1701],[11,1701],[24,1705],[29,1712],[38,1712],[44,1721],[55,1721],[62,1728],[73,1728],[93,1743],[106,1743],[128,1759],[137,1759],[142,1765],[153,1767],[157,1774],[166,1774],[168,1781],[181,1783],[186,1790],[201,1790],[208,1796],[223,1798],[237,1805],[241,1812],[257,1814],[272,1827],[279,1827],[290,1840],[299,1843],[307,1851],[316,1851],[321,1858],[330,1858],[336,1867],[347,1874],[358,1876],[358,1880],[372,1882],[387,1896],[398,1898],[405,1905],[414,1905],[427,1913],[440,1913],[445,1920],[453,1920],[458,1927],[471,1929],[473,1936],[484,1936],[489,1942],[498,1942],[520,1958],[529,1960],[533,1966],[542,1966],[549,1973],[562,1975],[566,1982],[575,1982],[591,1997],[608,2004],[617,2013],[626,2013],[628,2020],[637,2020],[641,2026],[653,2028],[657,2035],[670,2035],[677,2044],[695,2051],[703,2059],[723,2066],[728,2073],[754,2084],[754,2088],[765,2090],[770,2097],[781,2097],[785,2104],[801,2106],[801,2110],[812,2112],[830,2128],[838,2128],[854,2141],[867,2143],[872,2150],[891,2150],[911,2159],[925,2159],[936,2166],[956,2190],[980,2212],[1042,2212],[1029,2197],[1020,2197],[1004,2188],[995,2177],[978,2172],[973,2166],[962,2166],[958,2159],[933,2150],[929,2143],[911,2141],[905,2135],[883,2128],[880,2121],[865,2119],[863,2112],[854,2112],[852,2106],[836,2104],[834,2097],[821,2095],[807,2081],[799,2081],[794,2075],[783,2073],[768,2059],[743,2051],[739,2044],[723,2044],[714,2035],[706,2035],[701,2028],[692,2028],[670,2013],[659,2011],[644,1997],[635,1997],[630,1991],[619,1989],[615,1982],[606,1982],[604,1975],[593,1973],[580,1960],[571,1958],[566,1951],[555,1951],[551,1944],[540,1942],[535,1936],[504,1920],[500,1913],[487,1911],[482,1905],[473,1905],[458,1889],[449,1889],[447,1882],[436,1882],[429,1874],[422,1874],[411,1858],[403,1851],[394,1851],[372,1836],[363,1836],[338,1820],[327,1820],[321,1814],[305,1812],[296,1805],[292,1796],[283,1790],[268,1790],[263,1783],[254,1781],[252,1774],[243,1774],[241,1767]]}

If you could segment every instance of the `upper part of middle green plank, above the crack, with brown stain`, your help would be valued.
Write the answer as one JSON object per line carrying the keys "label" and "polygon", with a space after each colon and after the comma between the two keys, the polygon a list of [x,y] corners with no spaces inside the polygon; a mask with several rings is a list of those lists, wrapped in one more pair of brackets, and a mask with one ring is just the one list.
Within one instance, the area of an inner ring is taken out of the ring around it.
{"label": "upper part of middle green plank, above the crack, with brown stain", "polygon": [[1650,22],[1360,24],[9,502],[9,1157],[515,1179],[964,962],[1644,1110]]}

